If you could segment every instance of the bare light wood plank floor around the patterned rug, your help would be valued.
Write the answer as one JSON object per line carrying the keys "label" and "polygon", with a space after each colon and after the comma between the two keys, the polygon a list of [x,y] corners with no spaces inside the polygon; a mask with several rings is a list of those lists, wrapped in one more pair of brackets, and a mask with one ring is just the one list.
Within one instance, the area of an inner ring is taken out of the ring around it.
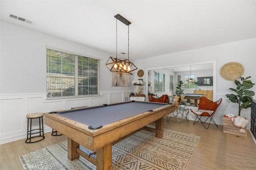
{"label": "bare light wood plank floor around the patterned rug", "polygon": [[[223,133],[223,126],[211,124],[204,129],[200,122],[176,123],[166,121],[164,128],[200,136],[188,170],[255,170],[256,144],[249,131],[248,137],[236,137]],[[25,139],[0,145],[0,169],[23,170],[18,156],[66,140],[65,136],[51,136],[38,143],[25,143]]]}

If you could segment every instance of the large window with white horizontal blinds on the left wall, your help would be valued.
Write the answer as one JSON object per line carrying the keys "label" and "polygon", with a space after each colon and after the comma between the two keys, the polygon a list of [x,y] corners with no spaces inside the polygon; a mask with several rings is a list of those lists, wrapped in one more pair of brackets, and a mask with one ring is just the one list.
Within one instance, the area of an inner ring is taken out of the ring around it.
{"label": "large window with white horizontal blinds on the left wall", "polygon": [[100,60],[46,49],[47,98],[100,94]]}

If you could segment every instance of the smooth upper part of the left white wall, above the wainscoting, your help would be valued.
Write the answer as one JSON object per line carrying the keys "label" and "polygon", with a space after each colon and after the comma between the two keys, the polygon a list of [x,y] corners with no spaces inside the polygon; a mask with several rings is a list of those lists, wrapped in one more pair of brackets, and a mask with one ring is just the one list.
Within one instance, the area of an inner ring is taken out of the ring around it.
{"label": "smooth upper part of the left white wall, above the wainscoting", "polygon": [[[0,94],[45,93],[46,47],[100,59],[101,90],[124,90],[111,86],[111,72],[105,66],[115,54],[86,47],[54,36],[1,21]],[[131,81],[133,80],[131,76]],[[133,87],[130,86],[130,89]]]}

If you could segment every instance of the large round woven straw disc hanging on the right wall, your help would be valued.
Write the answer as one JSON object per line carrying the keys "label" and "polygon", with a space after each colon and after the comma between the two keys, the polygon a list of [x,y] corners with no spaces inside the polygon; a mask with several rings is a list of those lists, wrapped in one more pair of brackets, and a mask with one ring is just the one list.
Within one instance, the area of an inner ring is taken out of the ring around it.
{"label": "large round woven straw disc hanging on the right wall", "polygon": [[244,67],[240,63],[230,62],[220,68],[220,75],[226,80],[237,80],[244,74]]}

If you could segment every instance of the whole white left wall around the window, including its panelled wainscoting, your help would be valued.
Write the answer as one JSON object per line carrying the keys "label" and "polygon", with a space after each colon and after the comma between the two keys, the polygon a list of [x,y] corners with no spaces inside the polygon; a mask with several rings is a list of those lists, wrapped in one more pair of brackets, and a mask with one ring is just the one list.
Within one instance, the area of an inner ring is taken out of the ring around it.
{"label": "whole white left wall around the window, including its panelled wainscoting", "polygon": [[[26,137],[28,113],[125,100],[125,87],[111,86],[111,72],[105,66],[114,54],[4,21],[0,23],[0,35],[0,144]],[[46,47],[100,59],[101,96],[47,100]],[[130,76],[130,84],[132,80],[134,76]],[[50,130],[45,127],[45,131]]]}

